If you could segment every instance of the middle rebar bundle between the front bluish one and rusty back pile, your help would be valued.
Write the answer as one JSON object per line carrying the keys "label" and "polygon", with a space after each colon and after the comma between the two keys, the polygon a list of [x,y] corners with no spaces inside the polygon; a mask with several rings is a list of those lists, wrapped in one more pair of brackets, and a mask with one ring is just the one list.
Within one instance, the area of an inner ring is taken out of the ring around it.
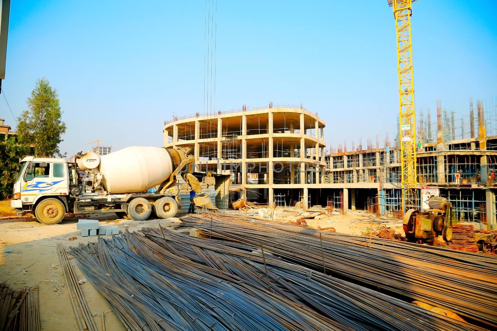
{"label": "middle rebar bundle between the front bluish one and rusty back pile", "polygon": [[247,245],[226,245],[221,240],[189,237],[169,230],[147,228],[142,233],[164,250],[235,274],[246,283],[266,287],[354,330],[479,329],[267,253],[262,255],[264,248],[254,252],[255,248]]}

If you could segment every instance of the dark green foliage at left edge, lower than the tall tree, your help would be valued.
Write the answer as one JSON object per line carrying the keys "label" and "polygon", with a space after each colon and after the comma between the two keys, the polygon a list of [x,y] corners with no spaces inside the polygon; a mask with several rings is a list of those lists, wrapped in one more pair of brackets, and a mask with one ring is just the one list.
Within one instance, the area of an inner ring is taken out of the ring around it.
{"label": "dark green foliage at left edge, lower than the tall tree", "polygon": [[12,196],[15,174],[19,170],[19,159],[29,154],[27,145],[16,143],[15,136],[0,141],[0,198]]}

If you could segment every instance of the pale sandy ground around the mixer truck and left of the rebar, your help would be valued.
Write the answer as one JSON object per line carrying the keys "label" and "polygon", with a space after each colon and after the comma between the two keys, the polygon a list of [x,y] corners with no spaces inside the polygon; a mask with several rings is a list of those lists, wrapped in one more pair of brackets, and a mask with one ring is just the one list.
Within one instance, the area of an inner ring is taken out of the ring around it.
{"label": "pale sandy ground around the mixer truck and left of the rebar", "polygon": [[[63,287],[65,281],[57,254],[58,243],[68,247],[96,241],[97,237],[81,237],[81,231],[76,230],[77,222],[78,219],[68,218],[59,224],[47,226],[38,223],[33,218],[0,217],[0,282],[8,281],[14,289],[38,284],[41,327],[44,330],[78,330],[69,294],[66,287]],[[115,216],[100,219],[100,223],[118,225],[120,231],[125,231],[126,228],[129,231],[137,231],[144,226],[161,224],[167,227],[174,224],[164,219],[137,222],[116,219]],[[68,238],[73,236],[78,239],[68,241]],[[5,253],[6,251],[10,253]],[[71,260],[73,261],[76,260]],[[78,266],[75,266],[74,270],[78,279],[85,278]],[[62,290],[57,290],[56,285]],[[103,296],[89,282],[80,286],[90,311],[92,313],[105,312],[107,331],[126,330]],[[94,320],[101,330],[101,317],[95,316]]]}

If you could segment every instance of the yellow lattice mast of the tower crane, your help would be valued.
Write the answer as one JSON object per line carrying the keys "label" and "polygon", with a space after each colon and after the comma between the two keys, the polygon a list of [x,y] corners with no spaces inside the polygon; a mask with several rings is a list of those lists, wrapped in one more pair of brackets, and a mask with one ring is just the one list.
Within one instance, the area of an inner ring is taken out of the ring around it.
{"label": "yellow lattice mast of the tower crane", "polygon": [[416,121],[414,114],[413,45],[411,15],[415,0],[388,0],[394,9],[397,28],[399,70],[402,208],[416,208]]}

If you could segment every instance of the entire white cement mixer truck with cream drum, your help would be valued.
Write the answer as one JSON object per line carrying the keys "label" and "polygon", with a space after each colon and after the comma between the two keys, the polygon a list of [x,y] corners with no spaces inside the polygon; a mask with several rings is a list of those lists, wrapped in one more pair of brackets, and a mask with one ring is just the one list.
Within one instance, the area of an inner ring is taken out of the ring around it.
{"label": "entire white cement mixer truck with cream drum", "polygon": [[[21,161],[11,206],[18,214],[33,213],[47,225],[59,223],[66,212],[116,213],[143,221],[153,210],[159,218],[172,217],[178,210],[178,199],[171,189],[180,171],[193,162],[190,152],[131,146],[103,156],[80,152],[74,163],[27,156]],[[80,173],[84,173],[83,178]],[[199,185],[190,185],[200,193]],[[149,193],[154,187],[155,192]]]}

